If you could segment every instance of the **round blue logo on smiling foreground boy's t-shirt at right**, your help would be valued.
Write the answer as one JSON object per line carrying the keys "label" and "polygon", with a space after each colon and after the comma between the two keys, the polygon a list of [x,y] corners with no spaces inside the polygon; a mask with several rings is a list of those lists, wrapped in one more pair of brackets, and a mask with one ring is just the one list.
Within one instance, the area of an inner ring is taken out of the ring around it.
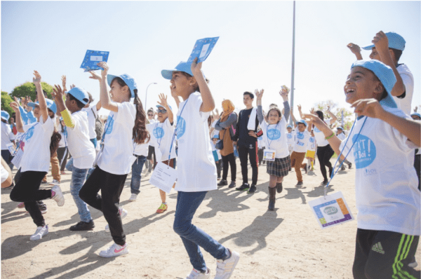
{"label": "round blue logo on smiling foreground boy's t-shirt at right", "polygon": [[[352,137],[352,142],[355,142],[356,137]],[[375,159],[375,145],[370,138],[365,135],[359,135],[358,141],[354,144],[354,160],[356,168],[367,168]]]}

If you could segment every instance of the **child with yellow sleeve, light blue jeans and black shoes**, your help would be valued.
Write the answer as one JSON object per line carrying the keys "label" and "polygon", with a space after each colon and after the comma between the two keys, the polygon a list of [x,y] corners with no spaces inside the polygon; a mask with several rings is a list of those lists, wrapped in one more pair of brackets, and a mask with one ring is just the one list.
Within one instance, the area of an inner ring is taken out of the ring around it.
{"label": "child with yellow sleeve, light blue jeans and black shoes", "polygon": [[[89,96],[86,90],[79,87],[63,92],[62,88],[56,85],[53,91],[58,114],[62,116],[67,127],[67,147],[73,158],[70,193],[81,219],[76,225],[70,226],[70,231],[88,231],[95,228],[95,224],[88,205],[79,197],[79,191],[95,160],[95,147],[89,140],[88,114],[82,110],[88,104]],[[66,102],[63,100],[64,94]]]}

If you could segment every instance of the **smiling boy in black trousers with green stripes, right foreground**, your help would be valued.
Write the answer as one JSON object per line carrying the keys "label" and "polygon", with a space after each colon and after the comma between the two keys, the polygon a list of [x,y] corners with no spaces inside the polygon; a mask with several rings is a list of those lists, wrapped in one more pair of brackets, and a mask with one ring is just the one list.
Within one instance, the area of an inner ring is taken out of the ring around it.
{"label": "smiling boy in black trousers with green stripes, right foreground", "polygon": [[341,141],[326,123],[306,114],[341,158],[355,164],[358,210],[354,278],[420,278],[408,266],[420,238],[420,191],[413,148],[420,147],[421,124],[409,120],[390,94],[396,78],[376,60],[354,62],[345,98],[357,114]]}

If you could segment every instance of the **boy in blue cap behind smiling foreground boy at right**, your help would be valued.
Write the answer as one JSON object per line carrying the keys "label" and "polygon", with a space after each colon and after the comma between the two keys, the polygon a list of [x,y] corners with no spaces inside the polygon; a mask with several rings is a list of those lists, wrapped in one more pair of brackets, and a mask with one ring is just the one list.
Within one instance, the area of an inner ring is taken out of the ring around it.
{"label": "boy in blue cap behind smiling foreground boy at right", "polygon": [[[364,50],[371,50],[370,58],[379,60],[391,67],[396,76],[396,83],[390,94],[393,96],[399,109],[410,114],[410,104],[413,98],[414,78],[406,64],[398,64],[399,58],[405,49],[406,41],[395,32],[375,34],[373,44],[363,46]],[[356,55],[357,60],[362,60],[361,50],[354,43],[349,43],[348,48]]]}

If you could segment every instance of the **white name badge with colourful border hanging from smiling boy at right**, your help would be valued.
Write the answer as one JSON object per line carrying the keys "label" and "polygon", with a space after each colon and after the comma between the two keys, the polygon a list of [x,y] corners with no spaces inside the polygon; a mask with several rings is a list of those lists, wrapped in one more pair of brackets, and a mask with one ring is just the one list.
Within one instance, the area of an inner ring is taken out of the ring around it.
{"label": "white name badge with colourful border hanging from smiling boy at right", "polygon": [[342,192],[309,201],[309,206],[321,229],[354,220]]}

